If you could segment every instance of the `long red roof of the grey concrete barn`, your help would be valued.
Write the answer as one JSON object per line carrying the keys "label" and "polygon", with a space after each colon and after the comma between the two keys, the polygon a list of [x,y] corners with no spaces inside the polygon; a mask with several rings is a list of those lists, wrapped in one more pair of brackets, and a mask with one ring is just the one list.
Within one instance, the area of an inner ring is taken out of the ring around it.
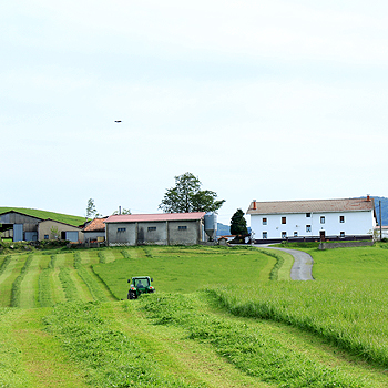
{"label": "long red roof of the grey concrete barn", "polygon": [[104,223],[139,223],[139,222],[165,222],[165,221],[196,221],[202,219],[206,213],[157,213],[157,214],[120,214],[111,215]]}

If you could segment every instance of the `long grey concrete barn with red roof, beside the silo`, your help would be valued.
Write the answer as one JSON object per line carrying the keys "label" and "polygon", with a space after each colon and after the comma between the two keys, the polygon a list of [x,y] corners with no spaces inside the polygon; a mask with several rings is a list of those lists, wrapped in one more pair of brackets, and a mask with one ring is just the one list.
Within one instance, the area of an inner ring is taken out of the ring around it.
{"label": "long grey concrete barn with red roof, beside the silo", "polygon": [[105,223],[106,244],[194,245],[204,241],[205,212],[111,215]]}

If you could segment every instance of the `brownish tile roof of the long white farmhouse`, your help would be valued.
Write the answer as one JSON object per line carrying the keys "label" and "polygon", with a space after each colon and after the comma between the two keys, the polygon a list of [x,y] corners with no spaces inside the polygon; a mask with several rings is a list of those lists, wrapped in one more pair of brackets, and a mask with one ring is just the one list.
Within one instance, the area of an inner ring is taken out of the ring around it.
{"label": "brownish tile roof of the long white farmhouse", "polygon": [[[256,208],[254,208],[256,207]],[[277,214],[277,213],[323,213],[323,212],[351,212],[371,211],[375,208],[374,200],[344,198],[344,200],[308,200],[308,201],[277,201],[251,203],[247,214]]]}

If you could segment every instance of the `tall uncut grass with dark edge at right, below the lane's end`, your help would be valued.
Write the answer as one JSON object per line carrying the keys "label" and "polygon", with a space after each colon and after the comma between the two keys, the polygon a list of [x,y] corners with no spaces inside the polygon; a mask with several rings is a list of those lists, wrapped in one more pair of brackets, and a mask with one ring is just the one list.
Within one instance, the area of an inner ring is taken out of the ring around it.
{"label": "tall uncut grass with dark edge at right, below the lane's end", "polygon": [[241,317],[272,319],[304,330],[388,368],[387,282],[283,282],[212,288],[219,305]]}

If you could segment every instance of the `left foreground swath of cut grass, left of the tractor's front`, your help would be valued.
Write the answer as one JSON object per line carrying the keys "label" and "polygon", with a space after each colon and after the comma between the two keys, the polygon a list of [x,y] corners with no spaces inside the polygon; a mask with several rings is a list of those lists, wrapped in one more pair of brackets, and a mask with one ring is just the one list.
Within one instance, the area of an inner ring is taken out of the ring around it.
{"label": "left foreground swath of cut grass, left of the tractor's front", "polygon": [[[193,387],[174,376],[163,376],[157,364],[126,334],[112,329],[99,314],[101,304],[67,303],[44,318],[71,360],[80,365],[86,382],[99,387]],[[194,387],[193,387],[194,388]]]}

